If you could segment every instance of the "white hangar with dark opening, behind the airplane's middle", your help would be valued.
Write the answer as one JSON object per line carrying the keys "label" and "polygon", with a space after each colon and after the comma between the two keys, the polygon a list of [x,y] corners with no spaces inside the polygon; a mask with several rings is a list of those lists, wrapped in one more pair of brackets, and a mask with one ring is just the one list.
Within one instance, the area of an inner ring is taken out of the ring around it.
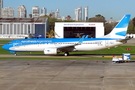
{"label": "white hangar with dark opening, behind the airplane's middle", "polygon": [[102,22],[56,22],[56,38],[81,38],[88,35],[89,38],[104,36],[104,25]]}

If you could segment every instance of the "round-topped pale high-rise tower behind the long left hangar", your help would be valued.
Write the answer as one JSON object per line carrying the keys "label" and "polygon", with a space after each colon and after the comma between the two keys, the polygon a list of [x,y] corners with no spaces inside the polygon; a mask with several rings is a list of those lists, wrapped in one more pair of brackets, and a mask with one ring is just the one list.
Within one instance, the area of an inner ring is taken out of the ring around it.
{"label": "round-topped pale high-rise tower behind the long left hangar", "polygon": [[18,18],[26,18],[27,11],[24,5],[18,7]]}

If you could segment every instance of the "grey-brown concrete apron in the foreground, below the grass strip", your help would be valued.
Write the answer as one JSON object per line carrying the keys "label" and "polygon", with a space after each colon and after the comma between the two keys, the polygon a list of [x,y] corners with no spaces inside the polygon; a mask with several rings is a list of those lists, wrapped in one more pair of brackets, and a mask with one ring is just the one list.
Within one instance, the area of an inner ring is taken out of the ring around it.
{"label": "grey-brown concrete apron in the foreground, below the grass strip", "polygon": [[0,60],[0,90],[135,90],[135,61]]}

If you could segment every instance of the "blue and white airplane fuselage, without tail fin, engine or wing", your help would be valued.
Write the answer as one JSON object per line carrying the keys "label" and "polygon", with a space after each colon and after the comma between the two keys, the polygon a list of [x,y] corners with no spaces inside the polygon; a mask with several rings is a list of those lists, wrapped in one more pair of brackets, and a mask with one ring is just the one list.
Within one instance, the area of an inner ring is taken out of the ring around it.
{"label": "blue and white airplane fuselage, without tail fin, engine or wing", "polygon": [[[46,48],[57,48],[59,52],[95,51],[123,44],[118,39],[87,38],[81,44],[77,39],[22,39],[14,40],[5,45],[10,52],[44,51]],[[77,44],[77,45],[75,45]],[[71,47],[70,47],[71,45]],[[75,46],[72,46],[75,45]],[[69,46],[68,48],[63,48]],[[60,49],[59,49],[60,48]]]}

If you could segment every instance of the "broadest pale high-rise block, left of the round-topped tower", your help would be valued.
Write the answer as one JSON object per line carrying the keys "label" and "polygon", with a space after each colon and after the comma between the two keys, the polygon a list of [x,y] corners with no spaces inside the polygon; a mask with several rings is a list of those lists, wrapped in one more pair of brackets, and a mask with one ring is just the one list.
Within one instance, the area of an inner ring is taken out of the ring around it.
{"label": "broadest pale high-rise block, left of the round-topped tower", "polygon": [[3,8],[2,18],[14,18],[14,9],[12,7]]}

